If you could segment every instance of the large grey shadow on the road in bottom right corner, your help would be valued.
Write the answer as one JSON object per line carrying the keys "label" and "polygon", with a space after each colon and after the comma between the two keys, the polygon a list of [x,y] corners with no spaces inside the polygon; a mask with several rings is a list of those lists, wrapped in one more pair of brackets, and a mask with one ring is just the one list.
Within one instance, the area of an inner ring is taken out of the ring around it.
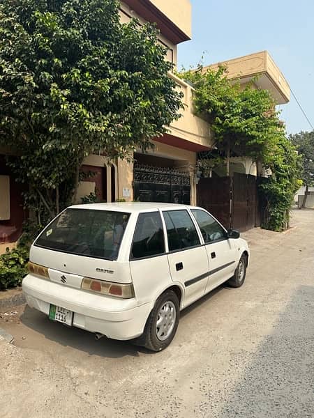
{"label": "large grey shadow on the road in bottom right corner", "polygon": [[313,418],[313,353],[314,287],[300,286],[257,352],[241,353],[240,348],[238,357],[232,356],[231,368],[237,368],[241,355],[252,358],[213,417]]}

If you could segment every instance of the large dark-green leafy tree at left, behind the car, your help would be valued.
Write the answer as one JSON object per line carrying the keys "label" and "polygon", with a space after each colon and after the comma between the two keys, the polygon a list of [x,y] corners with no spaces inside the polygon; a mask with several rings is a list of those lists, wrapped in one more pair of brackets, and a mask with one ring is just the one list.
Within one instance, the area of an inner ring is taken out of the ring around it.
{"label": "large dark-green leafy tree at left, behind the car", "polygon": [[0,146],[17,155],[27,206],[48,218],[75,199],[84,157],[128,157],[179,117],[156,30],[121,24],[118,7],[0,1]]}

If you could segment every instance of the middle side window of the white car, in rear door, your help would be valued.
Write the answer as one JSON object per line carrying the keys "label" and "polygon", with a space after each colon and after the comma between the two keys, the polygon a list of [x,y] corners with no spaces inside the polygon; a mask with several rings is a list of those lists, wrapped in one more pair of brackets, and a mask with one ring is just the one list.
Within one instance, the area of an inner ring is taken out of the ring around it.
{"label": "middle side window of the white car, in rear door", "polygon": [[163,212],[167,227],[169,251],[200,245],[200,238],[187,210]]}

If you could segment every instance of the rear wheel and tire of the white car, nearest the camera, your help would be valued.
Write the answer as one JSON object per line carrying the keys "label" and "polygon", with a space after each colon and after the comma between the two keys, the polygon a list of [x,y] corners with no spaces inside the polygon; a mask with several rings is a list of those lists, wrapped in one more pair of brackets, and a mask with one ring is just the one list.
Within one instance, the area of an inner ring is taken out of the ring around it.
{"label": "rear wheel and tire of the white car, nearest the camera", "polygon": [[177,295],[173,291],[165,291],[149,314],[144,333],[134,343],[151,351],[164,350],[177,332],[179,314]]}

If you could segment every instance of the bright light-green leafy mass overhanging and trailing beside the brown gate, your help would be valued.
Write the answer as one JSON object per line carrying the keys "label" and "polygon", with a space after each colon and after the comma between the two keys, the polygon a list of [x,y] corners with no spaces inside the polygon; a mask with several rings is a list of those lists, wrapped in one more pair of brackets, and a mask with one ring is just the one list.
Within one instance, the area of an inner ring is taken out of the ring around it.
{"label": "bright light-green leafy mass overhanging and trailing beside the brown gate", "polygon": [[[200,66],[181,72],[193,83],[197,114],[206,117],[220,155],[225,156],[229,176],[230,156],[250,156],[269,170],[261,189],[267,201],[263,226],[283,231],[289,225],[294,194],[299,187],[299,157],[285,135],[275,102],[269,91],[227,79],[223,67],[217,71]],[[257,167],[258,165],[257,164]],[[208,166],[199,162],[199,167]]]}

